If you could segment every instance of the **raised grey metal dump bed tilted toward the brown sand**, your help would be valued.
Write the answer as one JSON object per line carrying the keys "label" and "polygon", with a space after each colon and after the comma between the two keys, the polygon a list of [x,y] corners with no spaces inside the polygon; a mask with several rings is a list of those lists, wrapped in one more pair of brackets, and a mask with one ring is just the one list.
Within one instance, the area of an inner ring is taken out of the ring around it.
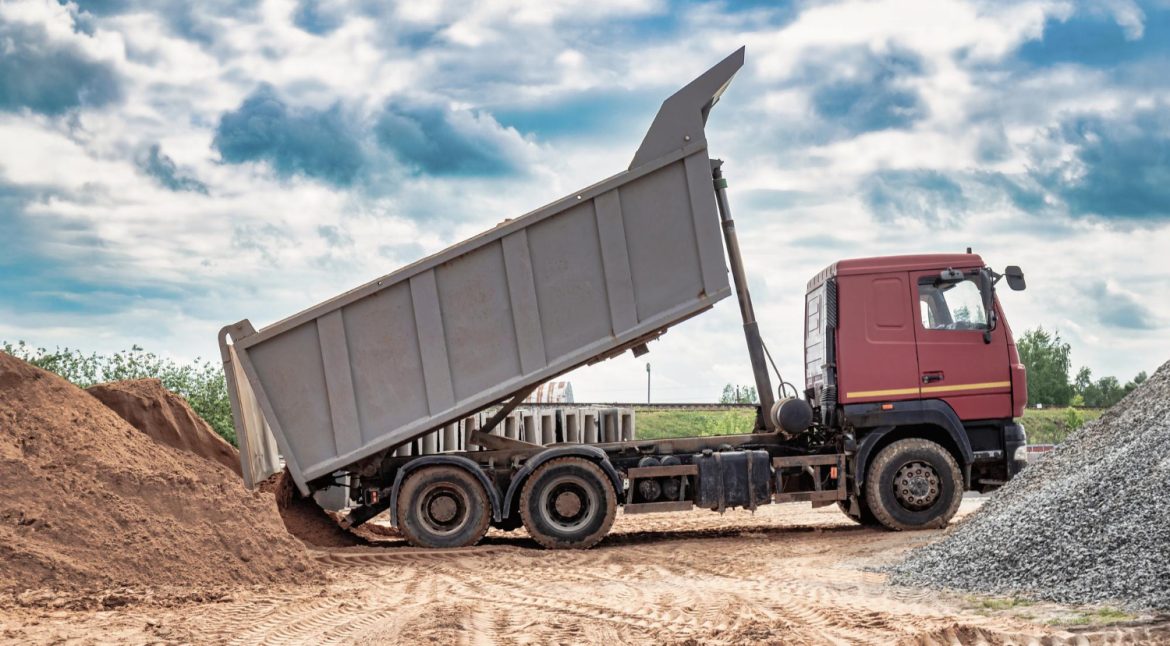
{"label": "raised grey metal dump bed tilted toward the brown sand", "polygon": [[703,126],[742,64],[668,98],[627,171],[260,331],[223,328],[247,485],[278,452],[308,493],[728,296]]}

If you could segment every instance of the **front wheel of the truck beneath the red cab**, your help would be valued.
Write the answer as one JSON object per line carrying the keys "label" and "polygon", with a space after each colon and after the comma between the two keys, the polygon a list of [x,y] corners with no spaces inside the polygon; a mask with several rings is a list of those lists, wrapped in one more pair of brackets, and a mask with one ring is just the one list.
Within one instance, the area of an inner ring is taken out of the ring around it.
{"label": "front wheel of the truck beneath the red cab", "polygon": [[963,502],[963,474],[942,446],[918,438],[881,449],[866,474],[865,507],[889,529],[943,528]]}

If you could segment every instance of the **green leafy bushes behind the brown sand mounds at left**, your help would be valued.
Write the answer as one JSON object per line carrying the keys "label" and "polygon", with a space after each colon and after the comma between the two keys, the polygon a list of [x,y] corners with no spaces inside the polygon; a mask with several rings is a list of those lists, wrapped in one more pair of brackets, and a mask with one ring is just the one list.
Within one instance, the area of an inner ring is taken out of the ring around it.
{"label": "green leafy bushes behind the brown sand mounds at left", "polygon": [[70,348],[57,348],[50,352],[21,341],[15,345],[5,342],[2,350],[83,389],[105,382],[156,378],[163,382],[163,387],[186,399],[216,433],[236,446],[227,383],[223,369],[216,363],[197,358],[192,364],[180,364],[146,352],[138,345],[112,355],[85,355]]}

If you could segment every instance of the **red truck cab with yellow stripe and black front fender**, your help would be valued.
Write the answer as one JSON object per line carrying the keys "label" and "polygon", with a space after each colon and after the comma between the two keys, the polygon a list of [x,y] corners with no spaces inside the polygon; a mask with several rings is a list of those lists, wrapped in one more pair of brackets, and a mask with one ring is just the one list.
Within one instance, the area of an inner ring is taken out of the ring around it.
{"label": "red truck cab with yellow stripe and black front fender", "polygon": [[[852,437],[853,473],[908,438],[945,447],[968,489],[1023,467],[1027,385],[996,295],[1003,277],[1024,288],[1019,268],[1000,275],[966,253],[842,260],[808,282],[805,394],[821,424]],[[861,479],[855,488],[862,515]]]}

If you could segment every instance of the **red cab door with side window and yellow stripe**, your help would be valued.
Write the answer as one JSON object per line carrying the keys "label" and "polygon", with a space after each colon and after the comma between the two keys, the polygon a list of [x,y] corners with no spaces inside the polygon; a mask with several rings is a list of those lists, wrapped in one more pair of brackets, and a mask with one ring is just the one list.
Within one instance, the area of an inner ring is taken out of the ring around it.
{"label": "red cab door with side window and yellow stripe", "polygon": [[922,399],[947,401],[962,420],[1012,417],[1006,327],[996,325],[986,342],[979,269],[964,269],[957,282],[920,272],[910,282]]}

